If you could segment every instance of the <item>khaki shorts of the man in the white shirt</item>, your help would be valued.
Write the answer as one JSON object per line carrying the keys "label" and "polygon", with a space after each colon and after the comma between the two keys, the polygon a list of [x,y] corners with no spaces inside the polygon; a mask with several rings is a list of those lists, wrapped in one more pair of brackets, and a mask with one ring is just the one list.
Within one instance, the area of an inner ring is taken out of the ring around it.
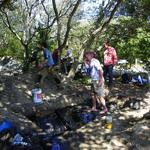
{"label": "khaki shorts of the man in the white shirt", "polygon": [[98,85],[98,81],[92,81],[92,86],[91,86],[91,90],[97,94],[97,96],[102,96],[104,97],[104,85],[99,86]]}

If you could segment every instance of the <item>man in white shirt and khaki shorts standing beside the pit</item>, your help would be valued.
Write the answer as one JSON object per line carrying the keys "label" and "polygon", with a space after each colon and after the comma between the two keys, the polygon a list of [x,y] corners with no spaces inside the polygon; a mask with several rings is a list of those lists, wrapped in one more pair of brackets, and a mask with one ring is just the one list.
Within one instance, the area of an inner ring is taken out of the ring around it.
{"label": "man in white shirt and khaki shorts standing beside the pit", "polygon": [[103,78],[103,70],[100,65],[99,60],[94,58],[94,52],[86,52],[84,54],[84,61],[86,66],[88,67],[88,73],[92,79],[92,111],[96,110],[96,100],[101,102],[103,105],[103,111],[100,112],[104,114],[108,111],[104,99],[104,78]]}

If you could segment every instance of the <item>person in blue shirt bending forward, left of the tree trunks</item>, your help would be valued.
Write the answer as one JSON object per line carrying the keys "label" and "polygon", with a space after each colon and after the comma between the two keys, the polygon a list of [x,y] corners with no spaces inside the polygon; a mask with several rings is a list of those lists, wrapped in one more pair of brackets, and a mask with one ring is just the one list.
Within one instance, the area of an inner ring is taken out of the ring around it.
{"label": "person in blue shirt bending forward, left of the tree trunks", "polygon": [[49,74],[49,70],[53,67],[54,61],[53,61],[52,53],[47,49],[46,42],[43,42],[40,45],[40,48],[43,51],[43,57],[44,57],[44,61],[39,65],[40,67],[39,75],[41,76],[40,84],[42,85],[44,79]]}

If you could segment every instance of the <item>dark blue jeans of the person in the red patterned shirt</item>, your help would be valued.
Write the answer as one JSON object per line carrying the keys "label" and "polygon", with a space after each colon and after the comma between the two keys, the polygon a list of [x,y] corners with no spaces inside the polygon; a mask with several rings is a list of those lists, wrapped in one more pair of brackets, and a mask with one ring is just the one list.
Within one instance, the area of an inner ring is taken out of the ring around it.
{"label": "dark blue jeans of the person in the red patterned shirt", "polygon": [[105,79],[105,82],[106,82],[106,79],[107,79],[107,74],[108,74],[108,77],[109,77],[109,85],[111,85],[112,82],[113,82],[113,65],[108,65],[108,66],[104,65],[104,79]]}

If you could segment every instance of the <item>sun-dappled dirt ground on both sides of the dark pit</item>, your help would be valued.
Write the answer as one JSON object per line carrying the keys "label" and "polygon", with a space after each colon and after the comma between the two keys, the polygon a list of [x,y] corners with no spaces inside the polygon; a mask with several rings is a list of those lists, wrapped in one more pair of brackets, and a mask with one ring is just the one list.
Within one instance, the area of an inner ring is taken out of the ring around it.
{"label": "sun-dappled dirt ground on both sides of the dark pit", "polygon": [[[0,74],[0,121],[9,119],[23,131],[40,127],[29,119],[35,113],[49,114],[66,106],[80,105],[90,99],[89,87],[77,82],[57,84],[47,78],[42,87],[43,104],[32,101],[36,72],[29,74]],[[106,97],[113,118],[112,130],[106,129],[106,116],[76,130],[68,130],[58,138],[66,150],[148,150],[150,148],[150,90],[147,86],[122,84],[116,79]],[[140,104],[135,109],[131,103]]]}

